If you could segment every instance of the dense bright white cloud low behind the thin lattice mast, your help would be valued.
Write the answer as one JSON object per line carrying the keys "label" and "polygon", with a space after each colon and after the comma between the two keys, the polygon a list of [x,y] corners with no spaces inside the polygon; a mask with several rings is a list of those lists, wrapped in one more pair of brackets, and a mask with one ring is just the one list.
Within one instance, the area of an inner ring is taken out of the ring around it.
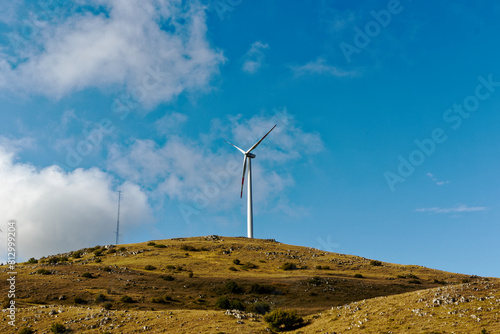
{"label": "dense bright white cloud low behind the thin lattice mast", "polygon": [[[111,176],[95,168],[71,173],[57,166],[36,169],[14,162],[14,157],[0,147],[0,212],[4,232],[8,220],[17,220],[20,259],[114,242],[118,185]],[[123,229],[147,223],[146,195],[128,182],[120,189]],[[5,241],[0,239],[2,249],[6,249]]]}

